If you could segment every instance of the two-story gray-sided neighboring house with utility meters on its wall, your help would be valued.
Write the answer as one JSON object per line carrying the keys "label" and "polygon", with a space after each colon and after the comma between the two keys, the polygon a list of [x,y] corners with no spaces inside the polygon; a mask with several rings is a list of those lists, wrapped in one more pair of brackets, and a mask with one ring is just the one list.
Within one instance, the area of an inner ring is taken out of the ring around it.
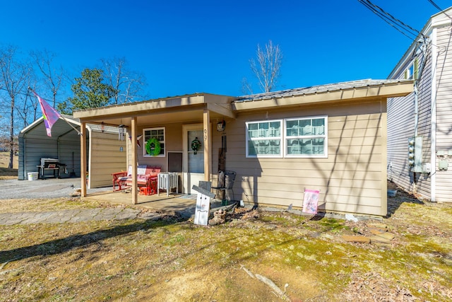
{"label": "two-story gray-sided neighboring house with utility meters on its wall", "polygon": [[388,180],[432,202],[452,202],[452,8],[432,16],[388,79],[413,93],[388,99]]}

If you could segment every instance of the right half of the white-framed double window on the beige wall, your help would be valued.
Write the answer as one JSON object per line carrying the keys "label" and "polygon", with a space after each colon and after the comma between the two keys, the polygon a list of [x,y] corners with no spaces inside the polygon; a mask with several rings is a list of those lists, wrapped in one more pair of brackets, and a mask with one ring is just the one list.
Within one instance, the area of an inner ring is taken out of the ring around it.
{"label": "right half of the white-framed double window on the beige wall", "polygon": [[326,157],[326,117],[285,120],[285,157]]}

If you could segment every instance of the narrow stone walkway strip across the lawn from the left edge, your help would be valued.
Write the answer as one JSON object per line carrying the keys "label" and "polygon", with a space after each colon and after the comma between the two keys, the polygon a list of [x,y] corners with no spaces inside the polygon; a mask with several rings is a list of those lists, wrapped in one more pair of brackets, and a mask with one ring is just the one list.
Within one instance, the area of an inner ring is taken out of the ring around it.
{"label": "narrow stone walkway strip across the lawn from the left edge", "polygon": [[160,213],[129,208],[68,209],[61,211],[0,213],[0,225],[31,223],[65,223],[92,220],[153,219],[162,217]]}

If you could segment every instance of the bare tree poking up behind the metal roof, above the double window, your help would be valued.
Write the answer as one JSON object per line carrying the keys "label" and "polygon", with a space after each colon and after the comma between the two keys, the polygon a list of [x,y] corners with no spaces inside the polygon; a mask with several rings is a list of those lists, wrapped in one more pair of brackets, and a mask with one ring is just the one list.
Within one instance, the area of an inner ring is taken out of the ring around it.
{"label": "bare tree poking up behind the metal roof, above the double window", "polygon": [[270,92],[275,88],[280,77],[282,62],[283,52],[281,52],[279,45],[273,45],[271,40],[268,41],[265,49],[261,49],[257,45],[256,60],[250,59],[249,64],[263,92]]}

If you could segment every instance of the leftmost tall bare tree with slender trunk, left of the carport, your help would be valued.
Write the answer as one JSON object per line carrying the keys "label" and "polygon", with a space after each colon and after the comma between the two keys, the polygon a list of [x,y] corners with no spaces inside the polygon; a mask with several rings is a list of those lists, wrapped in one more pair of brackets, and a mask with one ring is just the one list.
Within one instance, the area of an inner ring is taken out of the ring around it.
{"label": "leftmost tall bare tree with slender trunk, left of the carport", "polygon": [[13,168],[13,158],[14,158],[14,111],[16,109],[16,99],[20,93],[25,93],[27,91],[26,84],[28,77],[31,73],[30,66],[17,61],[16,47],[8,46],[0,49],[0,77],[3,83],[4,90],[6,91],[9,102],[9,115],[10,123],[9,127],[9,164],[8,168]]}

